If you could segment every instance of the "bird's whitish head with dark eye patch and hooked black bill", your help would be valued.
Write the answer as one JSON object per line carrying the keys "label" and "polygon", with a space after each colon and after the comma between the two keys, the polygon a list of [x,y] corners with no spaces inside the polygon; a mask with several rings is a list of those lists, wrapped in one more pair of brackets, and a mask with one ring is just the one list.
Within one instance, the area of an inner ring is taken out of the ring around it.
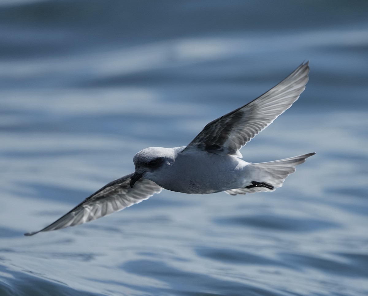
{"label": "bird's whitish head with dark eye patch and hooked black bill", "polygon": [[139,151],[133,158],[135,172],[131,176],[130,187],[140,178],[156,182],[155,176],[163,172],[175,161],[175,151],[172,148],[149,147]]}

